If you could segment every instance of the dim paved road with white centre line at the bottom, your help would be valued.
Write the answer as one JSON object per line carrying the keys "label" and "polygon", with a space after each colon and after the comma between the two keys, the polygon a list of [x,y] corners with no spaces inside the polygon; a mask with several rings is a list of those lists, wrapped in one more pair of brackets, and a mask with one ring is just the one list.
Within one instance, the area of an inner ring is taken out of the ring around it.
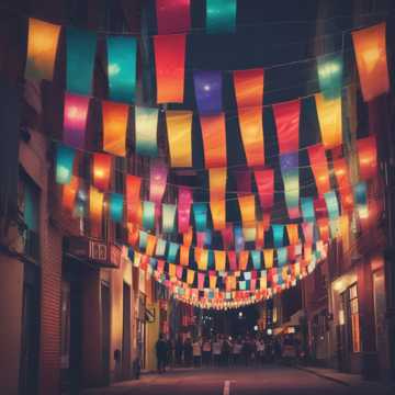
{"label": "dim paved road with white centre line at the bottom", "polygon": [[386,395],[376,384],[347,386],[306,371],[284,366],[176,370],[145,375],[111,388],[87,391],[95,395]]}

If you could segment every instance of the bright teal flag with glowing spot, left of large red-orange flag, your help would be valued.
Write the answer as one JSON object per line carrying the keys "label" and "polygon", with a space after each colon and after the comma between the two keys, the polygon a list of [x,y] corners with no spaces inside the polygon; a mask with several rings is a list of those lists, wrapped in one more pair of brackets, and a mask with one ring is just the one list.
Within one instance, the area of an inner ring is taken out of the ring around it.
{"label": "bright teal flag with glowing spot, left of large red-orange flag", "polygon": [[123,103],[136,100],[137,40],[106,37],[109,99]]}

